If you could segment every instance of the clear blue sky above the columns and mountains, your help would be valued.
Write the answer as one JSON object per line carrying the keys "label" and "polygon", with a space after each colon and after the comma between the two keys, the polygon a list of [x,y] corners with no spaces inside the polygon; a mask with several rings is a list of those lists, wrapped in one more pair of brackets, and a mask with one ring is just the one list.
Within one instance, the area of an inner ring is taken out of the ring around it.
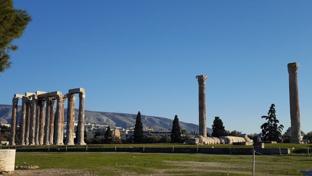
{"label": "clear blue sky above the columns and mountains", "polygon": [[[271,103],[290,127],[287,64],[298,62],[301,130],[312,130],[312,1],[15,0],[33,20],[0,73],[0,104],[15,93],[85,88],[86,110],[261,132]],[[78,104],[78,103],[77,103]],[[66,104],[65,104],[66,105]],[[65,106],[66,107],[66,106]],[[285,131],[284,130],[284,131]]]}

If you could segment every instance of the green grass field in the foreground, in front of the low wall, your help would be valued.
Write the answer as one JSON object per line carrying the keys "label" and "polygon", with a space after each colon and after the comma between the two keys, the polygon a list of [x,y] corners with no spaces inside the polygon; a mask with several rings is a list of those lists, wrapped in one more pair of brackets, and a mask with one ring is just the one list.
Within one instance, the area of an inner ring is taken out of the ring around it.
{"label": "green grass field in the foreground, in front of the low wall", "polygon": [[[17,153],[16,166],[37,165],[19,176],[250,176],[252,155],[140,153]],[[300,176],[312,170],[311,156],[255,156],[256,176]],[[41,175],[40,175],[41,174]]]}

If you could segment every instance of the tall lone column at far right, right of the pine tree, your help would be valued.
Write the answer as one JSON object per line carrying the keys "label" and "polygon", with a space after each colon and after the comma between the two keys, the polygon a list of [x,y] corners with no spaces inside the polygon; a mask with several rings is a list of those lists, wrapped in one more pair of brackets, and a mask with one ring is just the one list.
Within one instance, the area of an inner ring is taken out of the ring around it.
{"label": "tall lone column at far right, right of the pine tree", "polygon": [[300,111],[299,111],[299,94],[298,94],[298,63],[290,63],[287,65],[289,73],[289,100],[291,113],[292,136],[291,143],[301,143],[300,130]]}

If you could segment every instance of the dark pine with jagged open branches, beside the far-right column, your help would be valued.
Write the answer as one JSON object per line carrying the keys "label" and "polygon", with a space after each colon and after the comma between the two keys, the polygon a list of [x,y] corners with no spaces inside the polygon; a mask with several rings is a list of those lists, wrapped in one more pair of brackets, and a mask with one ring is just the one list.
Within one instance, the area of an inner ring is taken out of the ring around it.
{"label": "dark pine with jagged open branches, beside the far-right column", "polygon": [[262,141],[277,141],[281,142],[282,140],[282,130],[283,125],[277,126],[279,120],[277,120],[275,115],[275,105],[272,104],[268,115],[263,115],[261,118],[265,118],[268,122],[262,124],[260,128],[262,129]]}

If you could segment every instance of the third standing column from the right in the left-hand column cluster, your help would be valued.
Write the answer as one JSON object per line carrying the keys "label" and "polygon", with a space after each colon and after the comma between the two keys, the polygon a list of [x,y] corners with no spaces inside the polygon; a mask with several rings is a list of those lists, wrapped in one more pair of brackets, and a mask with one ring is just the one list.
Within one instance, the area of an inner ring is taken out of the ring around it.
{"label": "third standing column from the right in the left-hand column cluster", "polygon": [[63,95],[57,96],[57,111],[54,124],[54,145],[63,145],[64,135],[64,100]]}

